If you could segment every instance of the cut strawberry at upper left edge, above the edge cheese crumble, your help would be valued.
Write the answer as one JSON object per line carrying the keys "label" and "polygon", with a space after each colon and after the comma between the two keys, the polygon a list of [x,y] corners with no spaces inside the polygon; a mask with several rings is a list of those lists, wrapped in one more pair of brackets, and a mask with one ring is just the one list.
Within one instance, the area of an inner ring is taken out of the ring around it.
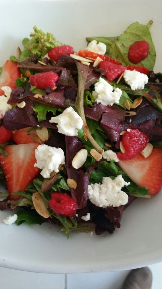
{"label": "cut strawberry at upper left edge, above the edge cheese crumble", "polygon": [[3,69],[0,75],[0,95],[4,95],[1,87],[10,86],[11,88],[16,88],[15,81],[20,77],[20,70],[17,67],[16,62],[11,62],[7,60],[3,65]]}

